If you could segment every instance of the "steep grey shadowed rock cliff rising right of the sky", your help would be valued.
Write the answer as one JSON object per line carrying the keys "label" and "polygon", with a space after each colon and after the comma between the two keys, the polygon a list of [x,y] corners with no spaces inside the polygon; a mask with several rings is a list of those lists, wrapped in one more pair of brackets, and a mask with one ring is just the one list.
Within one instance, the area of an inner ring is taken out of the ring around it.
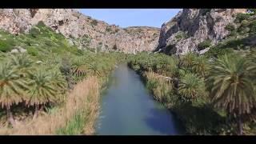
{"label": "steep grey shadowed rock cliff rising right of the sky", "polygon": [[158,48],[166,54],[201,53],[198,44],[209,40],[211,45],[229,34],[226,26],[234,22],[234,14],[246,9],[184,9],[162,25]]}

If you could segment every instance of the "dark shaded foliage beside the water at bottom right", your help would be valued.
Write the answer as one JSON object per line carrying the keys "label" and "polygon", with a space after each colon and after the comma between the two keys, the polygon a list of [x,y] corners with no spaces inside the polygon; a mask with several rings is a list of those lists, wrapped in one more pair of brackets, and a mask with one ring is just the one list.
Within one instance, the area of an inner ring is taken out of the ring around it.
{"label": "dark shaded foliage beside the water at bottom right", "polygon": [[210,106],[193,106],[185,103],[175,107],[175,113],[182,121],[188,134],[217,135],[221,128],[229,126],[225,118],[216,113]]}

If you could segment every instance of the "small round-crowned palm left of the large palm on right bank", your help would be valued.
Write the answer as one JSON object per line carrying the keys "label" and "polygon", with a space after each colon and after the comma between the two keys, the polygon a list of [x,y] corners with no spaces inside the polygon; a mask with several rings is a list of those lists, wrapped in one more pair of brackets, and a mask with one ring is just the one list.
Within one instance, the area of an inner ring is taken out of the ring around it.
{"label": "small round-crowned palm left of the large palm on right bank", "polygon": [[186,102],[197,102],[199,98],[206,95],[205,83],[195,74],[184,74],[178,86],[178,93]]}

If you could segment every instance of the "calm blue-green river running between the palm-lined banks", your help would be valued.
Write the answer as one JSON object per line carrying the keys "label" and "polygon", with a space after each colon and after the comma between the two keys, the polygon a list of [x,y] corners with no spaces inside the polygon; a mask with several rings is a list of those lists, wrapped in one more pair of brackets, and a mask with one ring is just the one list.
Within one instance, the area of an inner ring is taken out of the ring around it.
{"label": "calm blue-green river running between the palm-lined banks", "polygon": [[180,135],[174,114],[156,102],[134,70],[120,65],[102,95],[98,135]]}

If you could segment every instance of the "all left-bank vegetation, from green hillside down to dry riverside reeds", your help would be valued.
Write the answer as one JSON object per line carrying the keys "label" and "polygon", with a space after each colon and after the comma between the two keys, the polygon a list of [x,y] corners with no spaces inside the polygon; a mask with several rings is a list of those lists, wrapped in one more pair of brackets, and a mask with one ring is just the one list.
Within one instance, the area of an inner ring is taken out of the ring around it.
{"label": "all left-bank vegetation, from green hillside down to dry riverside reeds", "polygon": [[[79,50],[42,22],[28,34],[0,31],[0,35],[0,131],[6,134],[92,134],[98,112],[98,91],[115,64],[122,62],[123,54]],[[26,52],[18,52],[19,49]],[[90,84],[85,79],[91,77],[98,83],[97,90],[92,92],[79,84]],[[82,91],[76,97],[93,98],[80,99],[78,101],[83,103],[77,106],[70,96],[78,94],[77,89]],[[95,107],[84,105],[85,102],[93,102],[91,105]],[[94,110],[90,112],[92,107]],[[52,114],[52,110],[57,112]],[[67,111],[70,115],[60,120]],[[79,130],[71,128],[77,126],[78,121],[82,122]]]}

